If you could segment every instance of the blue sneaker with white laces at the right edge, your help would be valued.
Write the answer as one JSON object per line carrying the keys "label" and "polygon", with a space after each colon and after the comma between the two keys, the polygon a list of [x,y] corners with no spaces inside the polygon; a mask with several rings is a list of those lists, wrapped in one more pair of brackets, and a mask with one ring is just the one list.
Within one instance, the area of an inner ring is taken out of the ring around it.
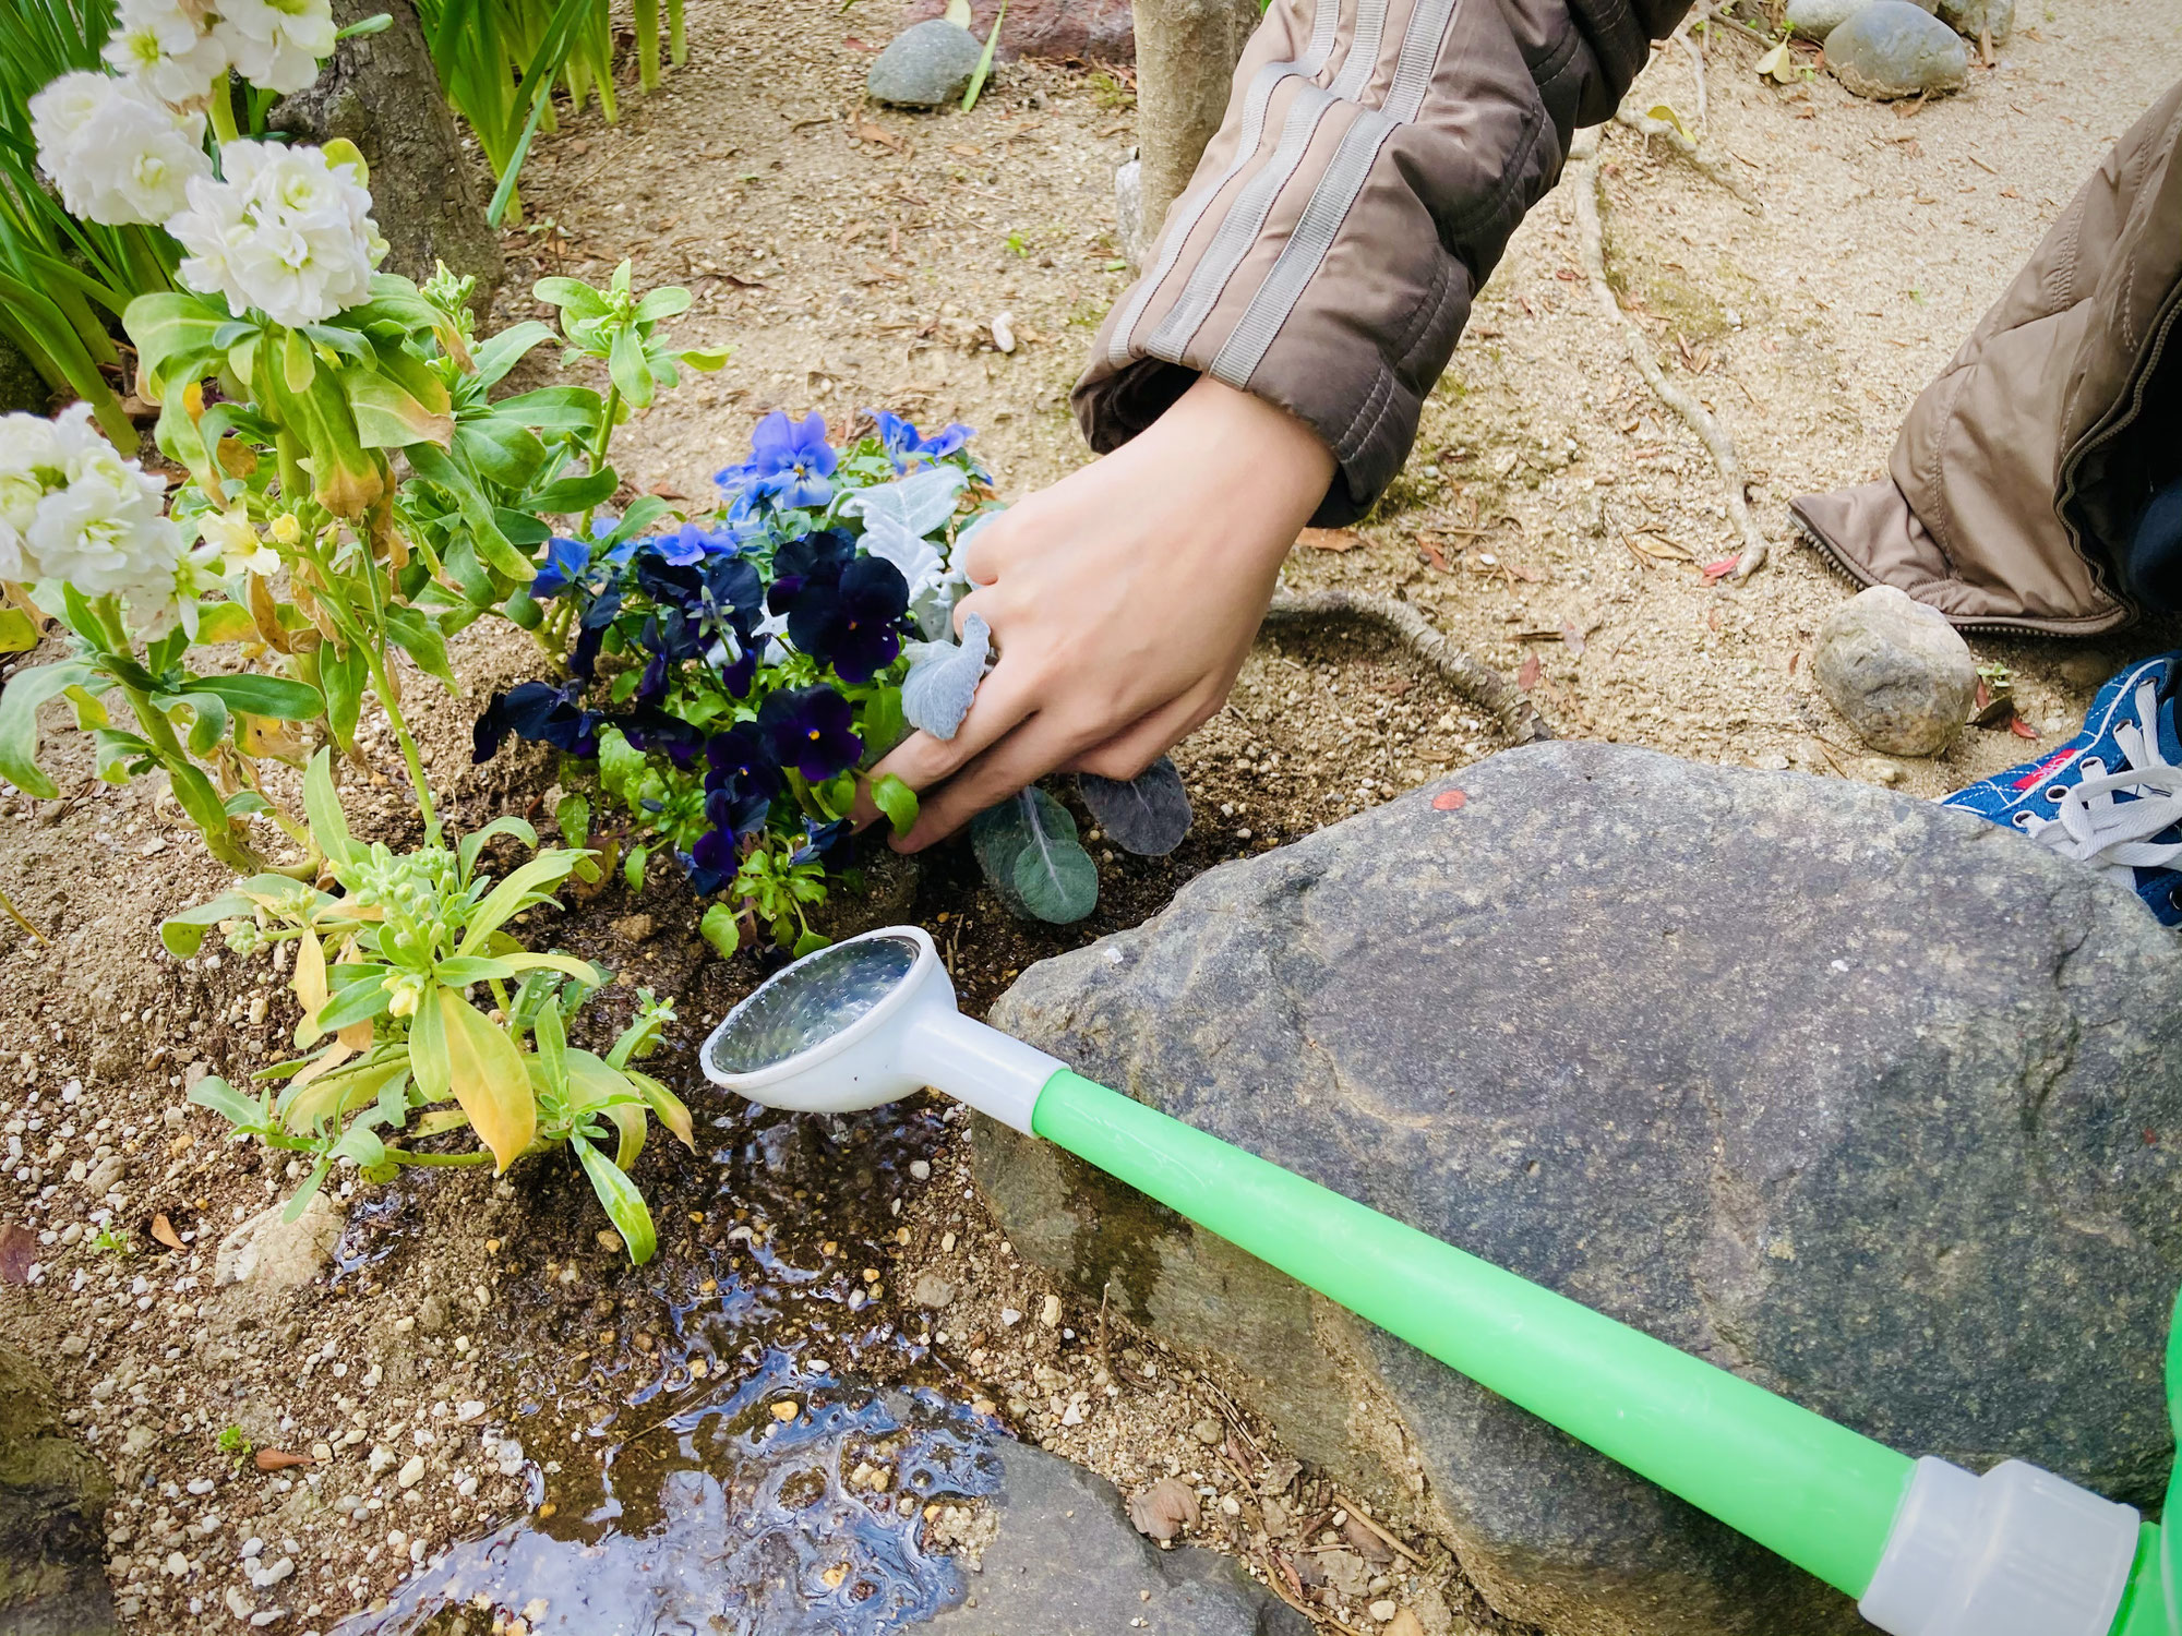
{"label": "blue sneaker with white laces at the right edge", "polygon": [[2073,739],[1940,805],[2014,825],[2127,886],[2162,925],[2182,927],[2178,694],[2182,652],[2130,665],[2099,689]]}

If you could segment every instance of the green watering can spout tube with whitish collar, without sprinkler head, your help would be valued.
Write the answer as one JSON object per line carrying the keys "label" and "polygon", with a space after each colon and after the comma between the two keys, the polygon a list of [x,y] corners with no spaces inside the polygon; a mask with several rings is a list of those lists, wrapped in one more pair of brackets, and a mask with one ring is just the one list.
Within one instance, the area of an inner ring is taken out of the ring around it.
{"label": "green watering can spout tube with whitish collar, without sprinkler head", "polygon": [[[2125,1505],[2021,1461],[1986,1479],[1911,1461],[1069,1069],[1039,1091],[1032,1130],[1837,1590],[1863,1599],[1885,1566],[1866,1605],[1881,1629],[2003,1636],[2016,1619],[1992,1610],[2021,1603],[2036,1636],[2182,1636],[2158,1529],[2147,1549]],[[1920,1488],[1922,1512],[1905,1505]],[[2079,1549],[2055,1560],[2038,1544],[2064,1523]]]}

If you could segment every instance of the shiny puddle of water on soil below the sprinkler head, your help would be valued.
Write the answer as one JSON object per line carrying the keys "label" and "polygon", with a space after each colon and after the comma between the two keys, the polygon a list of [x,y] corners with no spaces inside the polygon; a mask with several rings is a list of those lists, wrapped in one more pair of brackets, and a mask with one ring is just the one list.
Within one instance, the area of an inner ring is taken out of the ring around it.
{"label": "shiny puddle of water on soil below the sprinkler head", "polygon": [[[810,1117],[722,1106],[705,1082],[676,1091],[700,1130],[716,1110],[718,1191],[655,1208],[705,1204],[733,1230],[711,1248],[661,1232],[661,1254],[615,1283],[663,1300],[652,1350],[574,1383],[596,1320],[546,1278],[504,1287],[497,1344],[521,1359],[519,1403],[471,1431],[484,1470],[528,1485],[532,1516],[415,1571],[338,1636],[487,1636],[513,1619],[585,1636],[884,1636],[962,1599],[960,1568],[921,1544],[923,1507],[993,1492],[1008,1433],[862,1276],[886,1265],[888,1206],[938,1147],[940,1106]],[[862,1466],[886,1488],[851,1485]]]}

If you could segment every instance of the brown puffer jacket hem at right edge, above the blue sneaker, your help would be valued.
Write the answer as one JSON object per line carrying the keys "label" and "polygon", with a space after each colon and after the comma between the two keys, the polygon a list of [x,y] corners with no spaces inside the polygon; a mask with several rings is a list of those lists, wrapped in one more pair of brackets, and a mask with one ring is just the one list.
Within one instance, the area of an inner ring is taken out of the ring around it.
{"label": "brown puffer jacket hem at right edge, above the blue sneaker", "polygon": [[1887,480],[1794,504],[1866,585],[1955,624],[2097,635],[2182,476],[2182,85],[2114,146],[1909,410]]}

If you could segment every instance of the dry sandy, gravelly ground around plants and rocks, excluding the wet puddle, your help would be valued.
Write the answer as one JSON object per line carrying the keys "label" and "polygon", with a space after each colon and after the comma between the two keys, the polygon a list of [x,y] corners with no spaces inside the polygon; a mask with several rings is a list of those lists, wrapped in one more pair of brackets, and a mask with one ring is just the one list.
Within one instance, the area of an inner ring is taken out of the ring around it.
{"label": "dry sandy, gravelly ground around plants and rocks, excluding the wet puddle", "polygon": [[[724,373],[624,434],[622,469],[639,486],[705,495],[709,473],[742,454],[768,408],[820,408],[836,425],[864,406],[927,423],[964,419],[980,428],[1004,493],[1087,458],[1067,388],[1091,325],[1126,284],[1111,177],[1130,144],[1128,87],[1015,63],[969,116],[871,109],[862,76],[892,24],[888,0],[692,0],[687,68],[648,98],[631,87],[620,127],[587,113],[541,144],[526,172],[528,222],[511,233],[504,316],[528,316],[530,277],[596,279],[628,253],[639,284],[698,290],[679,334],[735,349]],[[1881,779],[1916,794],[2029,753],[1986,731],[1938,761],[1857,748],[1802,663],[1846,587],[1791,543],[1785,521],[1791,495],[1877,473],[1909,399],[2077,179],[2165,87],[2182,44],[2182,15],[2167,0],[2029,4],[2023,24],[1968,92],[1920,109],[1859,103],[1824,79],[1767,85],[1750,72],[1748,39],[1717,37],[1702,144],[1735,166],[1763,214],[1632,133],[1606,135],[1615,277],[1667,369],[1735,434],[1778,543],[1763,574],[1741,587],[1700,582],[1695,563],[1733,550],[1717,478],[1602,325],[1556,196],[1486,286],[1410,469],[1359,530],[1364,543],[1298,550],[1290,582],[1401,591],[1506,674],[1534,663],[1536,702],[1571,735]],[[1695,79],[1676,50],[1661,52],[1632,94],[1634,107],[1661,100],[1698,120]],[[1012,356],[991,342],[1004,312],[1021,340]],[[1628,534],[1689,561],[1643,567]],[[2156,646],[2165,641],[2147,630],[2097,646],[1973,639],[1979,659],[2014,667],[2023,713],[2047,742],[2073,729],[2119,661]],[[528,663],[506,633],[458,648],[473,687]],[[436,766],[452,774],[467,759],[467,718],[449,707],[421,713]],[[934,864],[916,910],[945,931],[971,999],[988,999],[1052,947],[1156,910],[1187,873],[1497,744],[1475,709],[1388,643],[1338,628],[1283,635],[1261,643],[1233,707],[1176,753],[1200,833],[1174,864],[1106,859],[1100,921],[1074,938],[1012,929],[960,859]],[[401,1206],[421,1226],[395,1235],[393,1259],[369,1259],[377,1228],[358,1211],[345,1248],[356,1265],[338,1287],[249,1326],[220,1313],[209,1246],[286,1182],[223,1143],[207,1115],[170,1108],[199,1071],[240,1078],[273,1060],[292,1010],[271,971],[181,969],[157,953],[155,921],[218,890],[216,870],[175,827],[170,803],[92,783],[81,739],[52,761],[68,774],[65,801],[0,798],[4,886],[52,938],[39,947],[0,927],[0,1036],[11,1054],[0,1117],[22,1143],[11,1143],[7,1219],[11,1235],[31,1235],[0,1243],[0,1265],[15,1267],[11,1276],[28,1254],[41,1265],[35,1289],[0,1289],[0,1322],[50,1361],[68,1416],[96,1433],[122,1477],[113,1581],[137,1627],[242,1627],[229,1590],[251,1608],[279,1608],[277,1629],[329,1627],[393,1590],[412,1560],[537,1503],[530,1483],[550,1475],[537,1461],[502,1472],[460,1420],[471,1400],[497,1416],[530,1368],[491,1344],[497,1291],[580,1272],[563,1296],[541,1298],[541,1311],[559,1315],[521,1331],[598,1331],[596,1359],[585,1342],[591,1374],[567,1387],[572,1414],[611,1409],[635,1381],[657,1390],[674,1370],[687,1387],[696,1352],[681,1344],[685,1307],[674,1307],[685,1294],[622,1278],[611,1254],[580,1243],[596,1222],[585,1219],[570,1248],[565,1222],[580,1193],[565,1176],[526,1184],[535,1195],[463,1176]],[[456,811],[473,822],[524,807],[543,779],[532,761],[449,783]],[[391,790],[360,803],[358,825],[399,835]],[[607,921],[631,905],[609,907],[585,936],[607,938]],[[683,993],[694,1030],[748,973],[707,962],[685,894],[648,897],[646,912],[661,921],[657,940],[600,953]],[[934,1176],[951,1184],[960,1147],[945,1132],[934,1143]],[[96,1248],[92,1217],[105,1204],[70,1169],[113,1156],[127,1176],[111,1224],[133,1232],[131,1256]],[[661,1211],[687,1206],[692,1219],[674,1265],[729,1254],[720,1219],[696,1219],[716,1178],[666,1154],[646,1163],[663,1167],[648,1182]],[[781,1202],[783,1222],[816,1208],[794,1200]],[[146,1241],[153,1211],[188,1235],[183,1250]],[[949,1193],[940,1211],[938,1193],[912,1198],[903,1219],[912,1239],[897,1239],[892,1219],[858,1226],[851,1254],[871,1254],[888,1289],[910,1289],[930,1270],[960,1283],[964,1309],[949,1322],[969,1333],[947,1368],[964,1396],[988,1392],[1019,1431],[1126,1485],[1211,1464],[1191,1429],[1220,1414],[1215,1385],[1108,1398],[1115,1381],[1102,1359],[1060,1339],[1067,1326],[1089,1335],[1093,1315],[995,1328],[993,1313],[1043,1313],[1043,1291],[973,1202],[956,1208]],[[956,1248],[932,1248],[954,1237]],[[500,1256],[504,1239],[521,1243],[521,1256]],[[810,1248],[814,1267],[836,1259],[820,1248]],[[659,1337],[668,1344],[655,1350]],[[945,1352],[947,1342],[934,1344]],[[1069,1424],[1069,1405],[1089,1411]],[[260,1446],[327,1442],[334,1459],[314,1477],[260,1477],[218,1453],[231,1424]],[[332,1448],[349,1431],[358,1437]],[[375,1446],[425,1455],[430,1481],[391,1485],[391,1472],[367,1468]],[[463,1492],[467,1479],[476,1483]],[[377,1507],[367,1501],[353,1518],[329,1509],[367,1496]],[[1257,1509],[1244,1518],[1263,1520]],[[264,1540],[266,1562],[295,1562],[264,1595],[244,1577],[249,1538]],[[1242,1527],[1233,1542],[1248,1551],[1261,1538]],[[183,1573],[172,1573],[175,1553]],[[1444,1564],[1431,1595],[1475,1614]],[[1440,1614],[1431,1623],[1449,1627]]]}

